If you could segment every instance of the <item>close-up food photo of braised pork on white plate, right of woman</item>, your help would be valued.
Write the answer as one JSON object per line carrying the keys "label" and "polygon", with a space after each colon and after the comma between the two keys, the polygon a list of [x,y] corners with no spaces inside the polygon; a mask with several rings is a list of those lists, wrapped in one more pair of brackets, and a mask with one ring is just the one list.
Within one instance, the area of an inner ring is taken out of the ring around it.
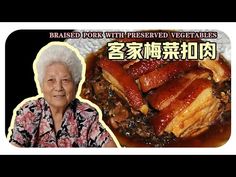
{"label": "close-up food photo of braised pork on white plate, right of woman", "polygon": [[85,59],[80,96],[98,105],[120,145],[224,145],[231,133],[227,35],[216,30],[117,31],[123,32],[117,38],[66,42]]}

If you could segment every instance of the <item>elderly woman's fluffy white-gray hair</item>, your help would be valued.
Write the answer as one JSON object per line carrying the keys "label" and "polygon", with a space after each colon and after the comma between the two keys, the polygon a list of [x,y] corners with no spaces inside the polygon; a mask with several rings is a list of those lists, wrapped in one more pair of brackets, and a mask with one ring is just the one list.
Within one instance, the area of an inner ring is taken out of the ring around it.
{"label": "elderly woman's fluffy white-gray hair", "polygon": [[43,83],[46,67],[57,62],[68,67],[74,83],[78,84],[82,77],[82,64],[76,53],[66,46],[51,45],[42,51],[36,63],[40,85]]}

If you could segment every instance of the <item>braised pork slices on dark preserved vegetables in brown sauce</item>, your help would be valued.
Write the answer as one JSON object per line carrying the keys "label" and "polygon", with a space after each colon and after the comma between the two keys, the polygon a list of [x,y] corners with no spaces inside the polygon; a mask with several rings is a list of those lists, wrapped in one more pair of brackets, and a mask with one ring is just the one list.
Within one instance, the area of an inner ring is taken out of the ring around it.
{"label": "braised pork slices on dark preserved vegetables in brown sauce", "polygon": [[[111,41],[159,43],[176,39]],[[67,42],[80,50],[80,41]],[[103,121],[121,146],[219,147],[227,142],[231,132],[231,67],[222,53],[217,52],[214,60],[162,56],[111,60],[107,42],[99,42],[99,47],[84,56],[87,70],[81,97],[99,106]],[[88,45],[92,46],[91,40]]]}

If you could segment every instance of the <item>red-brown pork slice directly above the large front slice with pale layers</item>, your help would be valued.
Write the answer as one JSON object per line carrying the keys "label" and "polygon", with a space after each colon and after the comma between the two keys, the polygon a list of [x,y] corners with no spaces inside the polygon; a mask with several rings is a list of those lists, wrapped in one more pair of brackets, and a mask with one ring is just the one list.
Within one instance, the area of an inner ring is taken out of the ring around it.
{"label": "red-brown pork slice directly above the large front slice with pale layers", "polygon": [[148,94],[147,100],[153,108],[162,110],[173,102],[194,80],[209,78],[210,75],[211,71],[207,69],[192,70],[184,76],[170,80],[166,84],[153,90]]}

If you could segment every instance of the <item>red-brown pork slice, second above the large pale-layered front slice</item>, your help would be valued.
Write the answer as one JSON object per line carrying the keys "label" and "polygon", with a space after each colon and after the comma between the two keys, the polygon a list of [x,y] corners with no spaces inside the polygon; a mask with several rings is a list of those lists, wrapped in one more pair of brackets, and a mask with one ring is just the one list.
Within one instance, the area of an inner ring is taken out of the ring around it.
{"label": "red-brown pork slice, second above the large pale-layered front slice", "polygon": [[158,68],[152,72],[142,75],[139,83],[143,92],[157,88],[169,80],[177,77],[179,74],[197,68],[196,61],[173,61]]}

